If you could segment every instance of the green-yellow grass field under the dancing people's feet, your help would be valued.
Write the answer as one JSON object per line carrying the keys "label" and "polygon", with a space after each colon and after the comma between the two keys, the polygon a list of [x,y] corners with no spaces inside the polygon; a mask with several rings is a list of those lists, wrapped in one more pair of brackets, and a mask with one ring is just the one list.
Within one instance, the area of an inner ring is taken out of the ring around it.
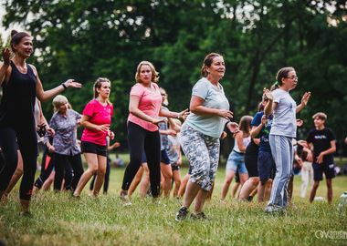
{"label": "green-yellow grass field under the dancing people's feet", "polygon": [[[125,162],[128,157],[123,156]],[[187,168],[181,169],[182,177]],[[225,169],[218,169],[212,200],[205,204],[207,221],[176,222],[176,199],[140,199],[123,208],[118,194],[124,168],[112,168],[110,190],[98,199],[83,190],[80,200],[69,193],[38,192],[32,198],[33,219],[19,216],[18,189],[0,206],[0,241],[5,245],[347,245],[347,210],[336,210],[347,190],[347,176],[333,179],[333,202],[300,199],[300,177],[294,179],[294,203],[282,216],[266,215],[265,204],[238,203],[220,192]],[[37,171],[39,174],[39,171]],[[317,192],[326,197],[325,181]],[[192,208],[190,209],[192,211]]]}

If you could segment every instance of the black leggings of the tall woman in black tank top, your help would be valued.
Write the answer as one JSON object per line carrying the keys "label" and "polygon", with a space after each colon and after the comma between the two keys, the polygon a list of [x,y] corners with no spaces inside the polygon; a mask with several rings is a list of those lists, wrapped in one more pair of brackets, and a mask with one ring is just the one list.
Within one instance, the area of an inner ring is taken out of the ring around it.
{"label": "black leggings of the tall woman in black tank top", "polygon": [[17,144],[23,157],[23,178],[19,189],[21,200],[30,200],[37,171],[37,132],[35,128],[0,128],[0,147],[5,167],[0,172],[0,191],[5,191],[18,163]]}

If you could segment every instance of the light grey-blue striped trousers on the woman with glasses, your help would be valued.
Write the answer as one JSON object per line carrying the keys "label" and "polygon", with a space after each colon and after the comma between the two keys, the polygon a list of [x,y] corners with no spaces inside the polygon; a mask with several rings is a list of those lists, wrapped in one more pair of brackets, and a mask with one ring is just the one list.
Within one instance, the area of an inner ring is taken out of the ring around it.
{"label": "light grey-blue striped trousers on the woman with glasses", "polygon": [[274,210],[285,209],[288,206],[288,184],[293,166],[292,138],[269,135],[272,158],[276,163],[276,175],[272,184],[268,207]]}

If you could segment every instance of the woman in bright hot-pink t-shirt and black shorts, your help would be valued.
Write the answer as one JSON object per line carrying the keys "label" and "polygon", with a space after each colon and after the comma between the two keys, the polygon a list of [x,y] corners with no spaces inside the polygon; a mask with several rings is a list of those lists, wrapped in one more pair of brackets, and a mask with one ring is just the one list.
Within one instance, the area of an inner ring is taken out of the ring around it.
{"label": "woman in bright hot-pink t-shirt and black shorts", "polygon": [[93,195],[98,196],[106,172],[107,145],[106,136],[114,138],[114,133],[110,131],[110,118],[113,114],[113,106],[109,100],[110,80],[99,77],[94,84],[94,98],[89,101],[83,110],[83,117],[80,124],[85,127],[83,130],[80,148],[87,160],[88,169],[79,179],[73,197],[79,197],[89,179],[97,173],[94,184]]}

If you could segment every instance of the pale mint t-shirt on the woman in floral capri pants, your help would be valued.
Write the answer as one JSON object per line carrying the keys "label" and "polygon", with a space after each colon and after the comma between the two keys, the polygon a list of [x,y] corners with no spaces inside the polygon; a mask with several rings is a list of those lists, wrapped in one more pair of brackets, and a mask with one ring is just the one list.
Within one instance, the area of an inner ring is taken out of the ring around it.
{"label": "pale mint t-shirt on the woman in floral capri pants", "polygon": [[[224,94],[222,85],[217,89],[205,77],[196,82],[193,87],[192,95],[201,97],[205,101],[203,106],[206,108],[229,109],[229,102]],[[219,116],[198,116],[190,113],[185,122],[195,130],[214,138],[219,138],[226,125],[226,118]]]}

